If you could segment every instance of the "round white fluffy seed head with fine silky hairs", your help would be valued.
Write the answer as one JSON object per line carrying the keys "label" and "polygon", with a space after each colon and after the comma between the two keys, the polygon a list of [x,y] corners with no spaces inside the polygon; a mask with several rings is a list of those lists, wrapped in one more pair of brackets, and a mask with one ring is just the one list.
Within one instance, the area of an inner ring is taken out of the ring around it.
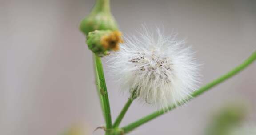
{"label": "round white fluffy seed head with fine silky hairs", "polygon": [[198,83],[198,66],[190,48],[176,35],[142,28],[137,36],[125,37],[120,51],[108,60],[110,74],[121,89],[135,91],[137,99],[167,108],[184,101]]}

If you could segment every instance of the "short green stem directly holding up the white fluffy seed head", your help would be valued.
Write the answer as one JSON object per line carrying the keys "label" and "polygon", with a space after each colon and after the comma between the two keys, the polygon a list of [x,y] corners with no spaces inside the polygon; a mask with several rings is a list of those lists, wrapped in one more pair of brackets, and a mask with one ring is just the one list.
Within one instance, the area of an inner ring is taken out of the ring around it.
{"label": "short green stem directly holding up the white fluffy seed head", "polygon": [[120,114],[116,118],[115,123],[113,124],[113,128],[117,128],[119,126],[119,124],[121,123],[122,119],[124,118],[125,113],[127,112],[128,108],[131,106],[133,100],[134,99],[129,98],[128,101],[125,103],[122,111],[120,112]]}

